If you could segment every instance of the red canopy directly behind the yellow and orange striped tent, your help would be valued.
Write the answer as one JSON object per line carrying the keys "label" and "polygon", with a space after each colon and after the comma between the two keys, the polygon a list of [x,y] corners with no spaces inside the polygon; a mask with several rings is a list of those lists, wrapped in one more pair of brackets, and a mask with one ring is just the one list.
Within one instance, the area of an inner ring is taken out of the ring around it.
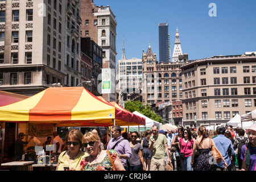
{"label": "red canopy directly behind the yellow and orange striped tent", "polygon": [[[139,117],[138,115],[135,115],[133,113],[131,113],[130,111],[127,111],[126,109],[124,109],[123,107],[121,107],[120,105],[118,105],[116,102],[112,101],[109,102],[107,100],[105,100],[105,98],[101,97],[101,96],[97,96],[100,100],[106,102],[107,104],[110,104],[112,106],[114,106],[116,109],[121,110],[123,113],[126,113],[127,117],[126,119],[128,121],[133,121],[134,123],[137,123],[136,125],[145,125],[146,120],[143,117]],[[127,123],[126,123],[127,124]],[[130,124],[130,123],[129,123]],[[133,123],[131,123],[131,125],[133,126]]]}

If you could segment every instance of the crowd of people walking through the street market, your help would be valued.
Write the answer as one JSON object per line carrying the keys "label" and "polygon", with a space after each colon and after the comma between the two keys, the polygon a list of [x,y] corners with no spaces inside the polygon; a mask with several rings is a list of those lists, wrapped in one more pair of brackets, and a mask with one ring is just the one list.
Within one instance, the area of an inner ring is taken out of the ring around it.
{"label": "crowd of people walking through the street market", "polygon": [[[23,136],[19,134],[17,147],[24,144]],[[141,134],[122,133],[116,125],[110,140],[108,134],[101,137],[97,128],[84,135],[71,129],[65,142],[57,133],[53,136],[55,152],[60,154],[57,171],[236,171],[236,166],[241,171],[256,169],[256,124],[246,131],[232,126],[219,126],[216,131],[204,126],[197,131],[182,126],[159,130],[153,125]],[[51,140],[48,137],[43,147]],[[16,152],[16,158],[20,159],[20,152]]]}

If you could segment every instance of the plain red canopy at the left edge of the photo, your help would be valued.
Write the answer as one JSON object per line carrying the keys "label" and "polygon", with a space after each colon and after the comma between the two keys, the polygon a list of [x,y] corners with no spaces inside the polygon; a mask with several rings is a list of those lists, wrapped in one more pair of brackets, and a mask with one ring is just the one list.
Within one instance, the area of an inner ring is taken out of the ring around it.
{"label": "plain red canopy at the left edge of the photo", "polygon": [[28,96],[23,96],[20,94],[0,90],[0,106],[13,104],[15,102],[22,101],[25,98],[28,98]]}

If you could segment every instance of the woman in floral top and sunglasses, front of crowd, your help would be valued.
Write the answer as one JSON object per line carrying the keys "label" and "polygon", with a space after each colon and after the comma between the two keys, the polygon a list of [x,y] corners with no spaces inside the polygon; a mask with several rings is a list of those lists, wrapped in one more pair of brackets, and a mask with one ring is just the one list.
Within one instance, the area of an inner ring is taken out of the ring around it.
{"label": "woman in floral top and sunglasses, front of crowd", "polygon": [[[81,171],[107,171],[105,167],[110,167],[113,170],[113,166],[110,162],[108,153],[106,150],[102,150],[100,137],[96,133],[88,132],[84,134],[82,138],[82,144],[84,145],[86,152],[89,156],[86,156],[81,160]],[[109,150],[112,157],[115,169],[117,171],[125,171],[121,160],[118,158],[118,154],[114,150]]]}

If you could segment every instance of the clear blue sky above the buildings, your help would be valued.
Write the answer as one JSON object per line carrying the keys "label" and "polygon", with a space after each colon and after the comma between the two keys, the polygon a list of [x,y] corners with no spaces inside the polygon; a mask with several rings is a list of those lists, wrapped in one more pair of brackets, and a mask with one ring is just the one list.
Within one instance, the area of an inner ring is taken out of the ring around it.
{"label": "clear blue sky above the buildings", "polygon": [[[208,7],[216,4],[216,15]],[[159,59],[158,23],[168,22],[171,56],[176,27],[181,48],[189,60],[256,51],[255,0],[94,0],[110,6],[117,19],[117,61],[125,39],[127,59],[142,58],[151,44]]]}

